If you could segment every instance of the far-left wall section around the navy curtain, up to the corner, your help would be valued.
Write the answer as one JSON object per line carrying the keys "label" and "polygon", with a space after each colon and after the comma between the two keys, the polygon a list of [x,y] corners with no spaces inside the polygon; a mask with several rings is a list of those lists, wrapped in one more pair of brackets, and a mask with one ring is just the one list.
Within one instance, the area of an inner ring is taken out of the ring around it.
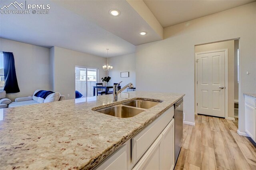
{"label": "far-left wall section around the navy curtain, up to the corner", "polygon": [[9,99],[32,96],[36,89],[50,89],[49,48],[0,38],[0,51],[12,52],[15,60],[20,92],[8,94]]}

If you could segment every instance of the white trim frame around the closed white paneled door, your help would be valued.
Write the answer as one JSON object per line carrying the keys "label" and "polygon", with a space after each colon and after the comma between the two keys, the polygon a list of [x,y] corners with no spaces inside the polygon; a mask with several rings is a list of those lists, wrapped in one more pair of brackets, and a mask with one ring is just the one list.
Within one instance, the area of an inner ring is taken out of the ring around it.
{"label": "white trim frame around the closed white paneled door", "polygon": [[213,51],[204,51],[195,53],[195,115],[197,115],[197,55],[198,54],[206,54],[206,53],[214,53],[214,52],[225,52],[225,119],[233,120],[232,118],[228,117],[228,49],[218,49]]}

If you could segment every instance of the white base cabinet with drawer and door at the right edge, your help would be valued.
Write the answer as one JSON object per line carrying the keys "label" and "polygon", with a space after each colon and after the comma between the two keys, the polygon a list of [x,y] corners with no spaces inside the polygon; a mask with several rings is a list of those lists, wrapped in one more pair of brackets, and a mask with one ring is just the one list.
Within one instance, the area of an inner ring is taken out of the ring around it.
{"label": "white base cabinet with drawer and door at the right edge", "polygon": [[245,97],[245,131],[256,142],[256,107],[255,98]]}

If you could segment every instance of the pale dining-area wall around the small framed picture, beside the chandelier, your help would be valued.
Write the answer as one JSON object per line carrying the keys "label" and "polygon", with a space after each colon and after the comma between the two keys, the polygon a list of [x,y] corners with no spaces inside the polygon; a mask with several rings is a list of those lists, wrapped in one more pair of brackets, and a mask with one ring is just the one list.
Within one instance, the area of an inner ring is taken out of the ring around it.
{"label": "pale dining-area wall around the small framed picture, beside the chandelier", "polygon": [[[108,63],[113,65],[113,70],[108,71],[108,76],[111,77],[110,84],[121,83],[124,87],[128,83],[132,83],[136,87],[136,69],[135,69],[135,54],[122,55],[118,57],[108,58]],[[129,71],[129,77],[120,77],[120,72]]]}

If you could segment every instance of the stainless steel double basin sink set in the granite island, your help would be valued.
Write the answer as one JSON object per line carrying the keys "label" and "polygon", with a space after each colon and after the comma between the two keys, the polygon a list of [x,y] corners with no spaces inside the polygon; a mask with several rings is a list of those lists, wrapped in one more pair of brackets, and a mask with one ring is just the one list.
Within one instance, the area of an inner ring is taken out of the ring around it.
{"label": "stainless steel double basin sink set in the granite island", "polygon": [[100,109],[100,110],[97,110],[97,112],[115,116],[115,117],[120,117],[120,118],[128,118],[128,117],[134,117],[139,113],[146,111],[146,109],[150,109],[151,107],[157,104],[159,104],[159,102],[134,100],[134,101],[122,103],[120,105],[115,105],[112,107]]}

